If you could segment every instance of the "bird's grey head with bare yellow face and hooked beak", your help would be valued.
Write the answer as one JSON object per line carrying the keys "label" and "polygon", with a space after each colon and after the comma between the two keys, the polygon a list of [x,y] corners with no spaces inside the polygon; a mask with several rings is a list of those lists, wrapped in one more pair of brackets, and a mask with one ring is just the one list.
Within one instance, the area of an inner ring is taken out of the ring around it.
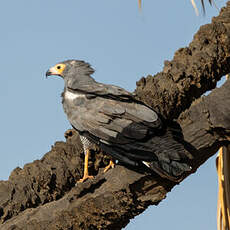
{"label": "bird's grey head with bare yellow face and hooked beak", "polygon": [[69,80],[83,80],[90,77],[94,69],[90,64],[79,60],[67,60],[56,64],[46,72],[46,77],[50,75],[61,76],[65,82]]}

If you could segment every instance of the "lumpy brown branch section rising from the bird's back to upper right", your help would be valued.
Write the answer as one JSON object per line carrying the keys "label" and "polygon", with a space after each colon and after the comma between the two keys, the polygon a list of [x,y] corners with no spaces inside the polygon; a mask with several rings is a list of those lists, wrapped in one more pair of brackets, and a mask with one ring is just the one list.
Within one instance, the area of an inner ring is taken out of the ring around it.
{"label": "lumpy brown branch section rising from the bird's back to upper right", "polygon": [[211,24],[201,26],[188,47],[176,51],[172,61],[165,61],[161,73],[137,82],[140,100],[172,119],[216,87],[230,72],[229,7],[228,2]]}

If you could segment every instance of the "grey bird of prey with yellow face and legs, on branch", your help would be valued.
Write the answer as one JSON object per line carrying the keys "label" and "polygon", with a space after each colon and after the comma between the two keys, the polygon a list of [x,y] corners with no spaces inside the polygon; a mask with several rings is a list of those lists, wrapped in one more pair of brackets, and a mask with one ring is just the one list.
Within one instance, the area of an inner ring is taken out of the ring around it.
{"label": "grey bird of prey with yellow face and legs, on branch", "polygon": [[115,161],[134,170],[146,168],[171,181],[178,181],[191,170],[190,158],[177,125],[166,119],[125,89],[99,83],[91,76],[94,69],[82,60],[66,60],[51,67],[46,77],[64,80],[62,104],[67,118],[80,136],[85,160],[79,182],[92,179],[88,159],[92,145],[112,157],[104,172]]}

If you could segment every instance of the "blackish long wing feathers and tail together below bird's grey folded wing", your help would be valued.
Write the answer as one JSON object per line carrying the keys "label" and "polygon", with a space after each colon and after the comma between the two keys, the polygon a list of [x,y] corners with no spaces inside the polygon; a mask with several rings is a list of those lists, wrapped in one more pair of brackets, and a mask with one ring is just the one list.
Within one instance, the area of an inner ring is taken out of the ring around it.
{"label": "blackish long wing feathers and tail together below bird's grey folded wing", "polygon": [[131,166],[140,164],[171,181],[180,181],[191,171],[192,156],[185,150],[180,127],[169,124],[164,133],[150,134],[147,140],[138,140],[123,145],[106,145],[102,149],[115,159]]}

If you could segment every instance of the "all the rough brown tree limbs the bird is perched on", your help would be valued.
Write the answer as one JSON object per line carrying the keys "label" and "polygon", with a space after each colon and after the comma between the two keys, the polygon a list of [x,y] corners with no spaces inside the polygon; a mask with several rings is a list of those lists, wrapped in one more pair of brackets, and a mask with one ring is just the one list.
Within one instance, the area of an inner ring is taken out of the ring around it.
{"label": "all the rough brown tree limbs the bird is perched on", "polygon": [[[193,172],[229,143],[230,81],[193,102],[230,72],[229,29],[230,3],[200,28],[189,47],[165,63],[163,72],[137,83],[138,98],[166,118],[178,118],[194,156]],[[55,143],[41,160],[16,168],[8,181],[1,181],[0,228],[121,229],[176,185],[120,165],[104,174],[108,159],[95,149],[91,159],[95,179],[75,186],[82,175],[81,152],[78,135],[69,132],[66,142]]]}

